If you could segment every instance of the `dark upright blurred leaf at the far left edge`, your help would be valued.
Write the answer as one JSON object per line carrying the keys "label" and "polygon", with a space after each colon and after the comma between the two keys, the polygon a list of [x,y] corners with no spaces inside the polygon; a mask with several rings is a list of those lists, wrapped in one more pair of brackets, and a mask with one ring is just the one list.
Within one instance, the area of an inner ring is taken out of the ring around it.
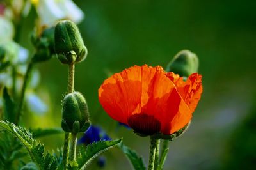
{"label": "dark upright blurred leaf at the far left edge", "polygon": [[15,104],[12,100],[12,97],[8,94],[7,88],[4,87],[3,91],[3,99],[4,99],[4,118],[8,121],[15,121]]}

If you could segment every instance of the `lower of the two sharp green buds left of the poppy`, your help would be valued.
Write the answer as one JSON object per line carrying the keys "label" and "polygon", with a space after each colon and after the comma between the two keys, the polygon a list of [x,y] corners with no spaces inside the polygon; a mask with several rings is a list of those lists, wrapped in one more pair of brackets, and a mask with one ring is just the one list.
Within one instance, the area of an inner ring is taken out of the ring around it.
{"label": "lower of the two sharp green buds left of the poppy", "polygon": [[79,92],[65,96],[62,109],[61,127],[65,132],[84,132],[90,126],[87,102]]}

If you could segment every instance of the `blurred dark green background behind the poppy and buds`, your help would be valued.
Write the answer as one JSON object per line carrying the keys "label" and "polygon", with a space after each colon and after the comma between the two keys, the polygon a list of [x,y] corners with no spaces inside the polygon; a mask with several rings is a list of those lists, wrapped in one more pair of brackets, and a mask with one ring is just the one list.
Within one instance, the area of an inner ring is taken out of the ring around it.
{"label": "blurred dark green background behind the poppy and buds", "polygon": [[[79,29],[88,48],[88,58],[76,65],[75,89],[87,98],[94,124],[113,139],[124,137],[148,162],[148,138],[118,128],[100,107],[97,90],[112,73],[145,63],[165,68],[177,52],[189,49],[200,59],[204,92],[188,132],[170,143],[164,169],[255,168],[255,0],[74,2],[86,15]],[[21,44],[28,49],[34,19],[32,12],[22,27]],[[60,127],[67,66],[54,58],[38,68],[42,75],[37,93],[49,92],[45,100],[51,111],[35,116],[30,125]],[[63,143],[62,135],[53,138],[42,139],[49,149]],[[104,169],[131,169],[117,148],[104,155]],[[97,168],[95,163],[90,166]]]}

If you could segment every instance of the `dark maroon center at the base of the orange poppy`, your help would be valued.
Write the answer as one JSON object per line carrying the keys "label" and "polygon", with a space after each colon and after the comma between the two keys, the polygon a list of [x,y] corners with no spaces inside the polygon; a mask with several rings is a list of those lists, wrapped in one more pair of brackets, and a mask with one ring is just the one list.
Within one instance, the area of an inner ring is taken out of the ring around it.
{"label": "dark maroon center at the base of the orange poppy", "polygon": [[161,123],[148,114],[133,114],[128,118],[129,126],[139,134],[153,135],[160,131]]}

